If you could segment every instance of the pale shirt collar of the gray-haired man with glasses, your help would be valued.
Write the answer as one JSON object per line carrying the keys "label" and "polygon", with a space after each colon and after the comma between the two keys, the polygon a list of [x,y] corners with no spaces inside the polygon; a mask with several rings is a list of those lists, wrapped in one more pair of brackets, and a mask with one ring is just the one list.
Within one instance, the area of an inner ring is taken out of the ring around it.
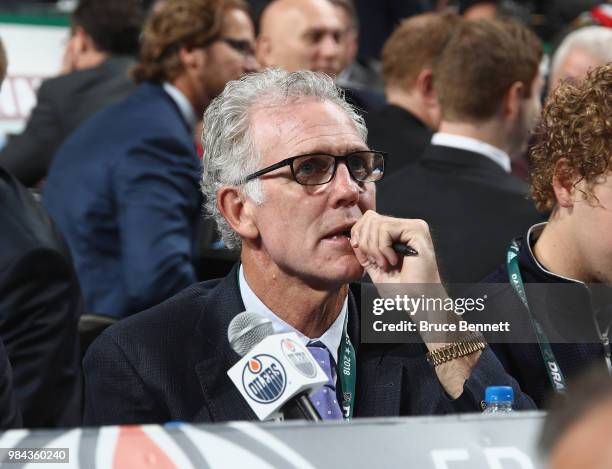
{"label": "pale shirt collar of the gray-haired man with glasses", "polygon": [[242,302],[244,303],[244,307],[246,311],[250,311],[253,313],[260,314],[272,321],[272,326],[274,327],[275,334],[281,334],[284,332],[295,332],[300,338],[300,342],[302,344],[307,345],[311,340],[319,340],[323,342],[323,344],[328,348],[332,357],[336,363],[338,363],[338,349],[340,348],[340,342],[342,341],[342,332],[344,330],[344,321],[346,319],[346,315],[348,313],[348,295],[344,299],[344,304],[342,305],[342,310],[340,314],[334,321],[334,323],[330,326],[325,333],[321,337],[318,338],[310,338],[306,337],[300,331],[295,329],[293,326],[287,324],[281,318],[279,318],[276,314],[270,310],[263,302],[257,297],[255,292],[251,290],[251,287],[246,281],[244,276],[244,270],[242,268],[242,264],[240,265],[240,269],[238,271],[238,285],[240,287],[240,296],[242,297]]}

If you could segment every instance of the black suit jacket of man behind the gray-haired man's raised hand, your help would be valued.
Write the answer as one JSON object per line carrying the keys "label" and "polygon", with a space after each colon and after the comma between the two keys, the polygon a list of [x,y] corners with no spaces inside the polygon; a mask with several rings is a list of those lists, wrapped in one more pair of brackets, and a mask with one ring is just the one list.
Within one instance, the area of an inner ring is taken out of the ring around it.
{"label": "black suit jacket of man behind the gray-haired man's raised hand", "polygon": [[504,259],[515,236],[541,221],[528,186],[484,155],[430,145],[421,161],[392,175],[379,210],[430,227],[442,278],[478,282]]}

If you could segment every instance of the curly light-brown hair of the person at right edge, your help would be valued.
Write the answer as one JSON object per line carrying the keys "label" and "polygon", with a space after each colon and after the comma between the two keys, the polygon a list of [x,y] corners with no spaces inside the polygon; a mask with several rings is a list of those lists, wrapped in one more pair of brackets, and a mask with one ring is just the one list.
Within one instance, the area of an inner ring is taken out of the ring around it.
{"label": "curly light-brown hair of the person at right edge", "polygon": [[[541,211],[555,206],[553,176],[587,182],[593,201],[599,176],[612,160],[612,62],[589,72],[580,82],[565,81],[548,98],[530,151],[531,198]],[[555,170],[557,161],[567,160]],[[578,183],[576,182],[576,184]]]}

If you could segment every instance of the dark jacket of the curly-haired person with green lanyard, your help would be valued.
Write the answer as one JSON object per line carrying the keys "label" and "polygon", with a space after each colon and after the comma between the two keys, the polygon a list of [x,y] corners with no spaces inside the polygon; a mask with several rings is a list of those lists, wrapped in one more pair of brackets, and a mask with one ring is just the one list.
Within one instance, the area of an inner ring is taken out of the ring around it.
{"label": "dark jacket of the curly-haired person with green lanyard", "polygon": [[[527,288],[530,308],[553,342],[551,347],[565,379],[576,379],[591,367],[598,367],[605,372],[604,348],[592,320],[593,306],[589,289],[544,271],[524,239],[519,251],[519,267],[525,285],[540,284],[538,289]],[[523,327],[525,330],[520,336],[528,342],[497,343],[491,347],[508,373],[519,382],[522,390],[533,398],[538,407],[546,407],[552,395],[552,385],[527,310],[509,287],[506,264],[500,265],[483,282],[508,285],[507,288],[497,290],[497,295],[489,295],[486,310],[496,311],[500,316],[496,320],[508,319],[513,321],[514,326]],[[547,292],[543,284],[553,284],[553,287]],[[565,284],[566,288],[555,288],[554,285],[560,284]],[[508,317],[504,318],[505,315]],[[564,336],[579,336],[583,339],[580,342],[569,339],[562,341]]]}

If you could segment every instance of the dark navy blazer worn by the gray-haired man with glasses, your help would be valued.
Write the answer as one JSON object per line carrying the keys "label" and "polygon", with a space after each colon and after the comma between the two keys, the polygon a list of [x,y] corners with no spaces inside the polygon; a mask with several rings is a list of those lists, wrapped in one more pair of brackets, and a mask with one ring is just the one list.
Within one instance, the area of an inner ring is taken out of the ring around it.
{"label": "dark navy blazer worn by the gray-haired man with glasses", "polygon": [[[235,267],[108,328],[84,360],[85,424],[256,419],[226,374],[239,360],[227,327],[242,311]],[[352,294],[348,330],[357,352],[356,417],[477,412],[491,384],[514,386],[516,407],[533,407],[488,348],[452,400],[423,343],[360,344]]]}

